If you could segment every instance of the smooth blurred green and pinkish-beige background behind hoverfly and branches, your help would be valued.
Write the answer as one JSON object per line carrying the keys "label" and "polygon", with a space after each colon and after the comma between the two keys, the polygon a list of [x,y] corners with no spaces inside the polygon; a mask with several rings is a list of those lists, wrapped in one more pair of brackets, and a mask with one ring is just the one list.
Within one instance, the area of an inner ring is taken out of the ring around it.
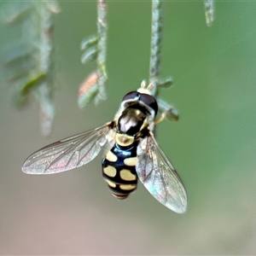
{"label": "smooth blurred green and pinkish-beige background behind hoverfly and branches", "polygon": [[96,32],[96,2],[61,2],[51,137],[40,135],[38,105],[17,111],[1,83],[0,254],[256,253],[256,3],[215,7],[212,28],[202,1],[164,7],[161,76],[175,84],[160,96],[181,118],[157,131],[189,195],[188,212],[178,215],[142,184],[126,201],[114,199],[101,155],[73,172],[21,172],[38,148],[112,120],[122,96],[148,79],[151,4],[109,1],[108,101],[80,111],[77,90],[95,64],[80,63],[79,45]]}

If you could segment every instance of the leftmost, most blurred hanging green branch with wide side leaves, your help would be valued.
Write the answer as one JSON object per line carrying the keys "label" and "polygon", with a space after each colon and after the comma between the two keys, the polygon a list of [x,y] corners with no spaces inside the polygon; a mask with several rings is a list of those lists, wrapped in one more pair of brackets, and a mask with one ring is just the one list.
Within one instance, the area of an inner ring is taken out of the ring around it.
{"label": "leftmost, most blurred hanging green branch with wide side leaves", "polygon": [[40,105],[44,136],[50,134],[55,117],[51,36],[52,16],[59,11],[55,1],[8,3],[2,10],[5,23],[20,29],[20,37],[16,36],[15,47],[9,50],[5,60],[15,105],[21,108],[30,94],[35,96]]}

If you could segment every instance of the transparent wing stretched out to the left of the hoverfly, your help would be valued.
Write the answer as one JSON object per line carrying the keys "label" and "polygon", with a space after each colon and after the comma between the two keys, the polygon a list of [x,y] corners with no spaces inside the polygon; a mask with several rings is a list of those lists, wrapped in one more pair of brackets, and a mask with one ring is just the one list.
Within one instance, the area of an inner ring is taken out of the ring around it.
{"label": "transparent wing stretched out to the left of the hoverfly", "polygon": [[84,166],[107,143],[109,131],[112,131],[110,123],[39,149],[27,158],[22,171],[29,174],[51,174]]}

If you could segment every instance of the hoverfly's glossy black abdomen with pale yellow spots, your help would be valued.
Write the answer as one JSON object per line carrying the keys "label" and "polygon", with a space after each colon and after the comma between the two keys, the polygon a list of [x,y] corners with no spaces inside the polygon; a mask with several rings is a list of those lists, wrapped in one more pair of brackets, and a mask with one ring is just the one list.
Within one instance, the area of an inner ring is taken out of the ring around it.
{"label": "hoverfly's glossy black abdomen with pale yellow spots", "polygon": [[120,148],[117,143],[102,161],[102,175],[114,197],[125,199],[137,189],[137,147]]}

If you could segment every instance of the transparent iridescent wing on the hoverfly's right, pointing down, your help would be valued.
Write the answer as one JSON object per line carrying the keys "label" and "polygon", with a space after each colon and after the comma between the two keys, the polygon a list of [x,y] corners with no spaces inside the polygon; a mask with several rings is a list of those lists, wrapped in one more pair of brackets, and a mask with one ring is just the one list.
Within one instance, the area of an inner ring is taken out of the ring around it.
{"label": "transparent iridescent wing on the hoverfly's right, pointing down", "polygon": [[149,193],[173,212],[185,212],[187,194],[183,183],[153,134],[143,138],[137,156],[137,175]]}

